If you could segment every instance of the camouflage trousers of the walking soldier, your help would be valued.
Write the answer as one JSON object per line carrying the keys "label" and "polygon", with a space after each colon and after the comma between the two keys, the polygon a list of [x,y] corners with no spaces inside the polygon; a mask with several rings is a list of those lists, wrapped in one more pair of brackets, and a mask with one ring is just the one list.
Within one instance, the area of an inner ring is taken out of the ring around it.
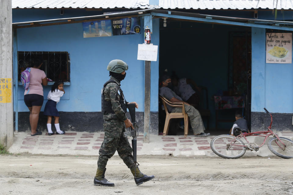
{"label": "camouflage trousers of the walking soldier", "polygon": [[99,150],[98,168],[106,168],[109,158],[114,155],[116,150],[125,165],[128,168],[133,168],[132,148],[128,139],[123,135],[125,132],[124,122],[119,119],[104,120],[103,127],[105,137]]}

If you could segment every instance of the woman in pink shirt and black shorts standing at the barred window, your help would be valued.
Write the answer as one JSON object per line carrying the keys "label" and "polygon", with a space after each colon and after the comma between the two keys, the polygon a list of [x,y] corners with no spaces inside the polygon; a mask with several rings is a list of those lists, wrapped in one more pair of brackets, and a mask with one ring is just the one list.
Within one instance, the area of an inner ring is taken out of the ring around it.
{"label": "woman in pink shirt and black shorts standing at the barred window", "polygon": [[30,110],[31,136],[42,135],[37,130],[39,114],[44,102],[43,86],[48,84],[47,76],[44,71],[40,70],[43,62],[42,59],[35,58],[33,67],[30,72],[30,84],[24,91],[24,103]]}

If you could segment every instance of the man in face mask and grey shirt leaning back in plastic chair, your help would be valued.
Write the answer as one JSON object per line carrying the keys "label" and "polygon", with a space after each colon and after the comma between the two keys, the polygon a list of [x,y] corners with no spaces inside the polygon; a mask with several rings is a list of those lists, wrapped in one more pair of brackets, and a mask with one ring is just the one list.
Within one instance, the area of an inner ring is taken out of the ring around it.
{"label": "man in face mask and grey shirt leaning back in plastic chair", "polygon": [[[195,109],[193,106],[188,104],[185,101],[182,101],[182,99],[175,94],[174,91],[172,91],[170,88],[167,86],[171,84],[171,79],[167,75],[163,75],[161,77],[161,88],[159,89],[159,94],[162,97],[167,98],[171,102],[182,102],[184,104],[185,112],[187,113],[188,117],[190,118],[190,124],[191,128],[193,130],[193,133],[196,137],[206,137],[210,135],[210,133],[204,133],[204,123],[202,122],[201,119],[201,114],[197,109]],[[181,108],[174,108],[171,106],[168,106],[168,111],[169,112],[182,112]]]}

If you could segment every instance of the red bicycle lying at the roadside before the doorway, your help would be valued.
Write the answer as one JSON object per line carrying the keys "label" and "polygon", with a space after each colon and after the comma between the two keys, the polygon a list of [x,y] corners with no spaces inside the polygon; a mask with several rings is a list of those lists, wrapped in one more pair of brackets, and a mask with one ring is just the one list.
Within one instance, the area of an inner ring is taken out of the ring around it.
{"label": "red bicycle lying at the roadside before the doorway", "polygon": [[[237,137],[219,135],[211,141],[212,151],[222,158],[240,158],[245,154],[246,150],[258,151],[259,148],[265,144],[266,139],[272,135],[272,139],[268,142],[269,150],[281,158],[293,158],[293,141],[286,137],[278,137],[276,133],[273,133],[271,130],[273,116],[266,108],[264,108],[264,110],[271,116],[271,123],[267,131],[241,133]],[[258,145],[249,143],[246,138],[248,136],[265,137],[265,139],[261,145]],[[241,138],[244,138],[246,143],[243,143],[243,141],[240,140]]]}

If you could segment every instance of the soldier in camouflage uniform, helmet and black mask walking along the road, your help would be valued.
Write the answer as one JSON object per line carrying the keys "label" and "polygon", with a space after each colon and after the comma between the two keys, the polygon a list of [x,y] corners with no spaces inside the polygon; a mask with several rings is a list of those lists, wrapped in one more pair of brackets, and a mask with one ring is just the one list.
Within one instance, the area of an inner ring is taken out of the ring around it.
{"label": "soldier in camouflage uniform, helmet and black mask walking along the road", "polygon": [[[104,141],[99,150],[99,160],[94,185],[96,186],[114,186],[105,179],[106,165],[115,151],[118,151],[120,158],[130,168],[136,185],[150,181],[154,176],[144,175],[139,171],[138,166],[133,161],[132,148],[127,137],[124,137],[125,127],[132,127],[131,121],[125,116],[127,112],[127,103],[123,91],[120,88],[120,82],[126,76],[125,70],[128,65],[122,60],[112,60],[107,66],[110,71],[110,80],[108,80],[102,89],[102,112],[104,114]],[[131,102],[138,105],[136,102]]]}

